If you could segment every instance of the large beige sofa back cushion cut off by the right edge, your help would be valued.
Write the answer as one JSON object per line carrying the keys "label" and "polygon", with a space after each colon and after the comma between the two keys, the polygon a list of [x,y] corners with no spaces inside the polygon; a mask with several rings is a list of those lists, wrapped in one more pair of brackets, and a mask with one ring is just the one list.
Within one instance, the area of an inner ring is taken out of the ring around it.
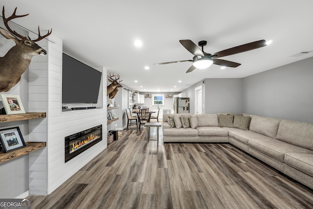
{"label": "large beige sofa back cushion cut off by the right edge", "polygon": [[313,150],[313,124],[283,119],[276,139]]}

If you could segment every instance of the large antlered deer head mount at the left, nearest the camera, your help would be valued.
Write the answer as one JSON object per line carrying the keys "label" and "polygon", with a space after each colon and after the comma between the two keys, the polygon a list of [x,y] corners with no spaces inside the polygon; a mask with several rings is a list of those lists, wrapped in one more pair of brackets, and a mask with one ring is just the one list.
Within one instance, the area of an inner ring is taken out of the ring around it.
{"label": "large antlered deer head mount at the left, nearest the camera", "polygon": [[[0,57],[0,92],[7,92],[14,87],[20,80],[23,72],[28,68],[31,58],[35,55],[45,55],[47,52],[42,47],[38,46],[35,42],[38,42],[45,37],[49,36],[52,32],[48,30],[48,33],[44,36],[40,35],[38,26],[38,39],[31,40],[29,37],[24,37],[18,34],[15,30],[12,30],[8,22],[14,18],[25,17],[26,15],[16,15],[16,9],[13,14],[5,18],[4,6],[2,9],[3,23],[6,27],[5,30],[0,27],[0,33],[7,39],[12,39],[15,42],[13,46],[3,57]],[[21,40],[20,40],[21,39]]]}

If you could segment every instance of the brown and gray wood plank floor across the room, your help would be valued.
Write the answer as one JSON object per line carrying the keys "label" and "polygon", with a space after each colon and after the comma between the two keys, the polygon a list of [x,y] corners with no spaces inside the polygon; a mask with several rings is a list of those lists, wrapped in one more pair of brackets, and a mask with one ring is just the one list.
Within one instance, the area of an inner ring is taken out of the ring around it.
{"label": "brown and gray wood plank floor across the room", "polygon": [[230,144],[122,134],[50,195],[29,196],[32,208],[313,209],[312,189]]}

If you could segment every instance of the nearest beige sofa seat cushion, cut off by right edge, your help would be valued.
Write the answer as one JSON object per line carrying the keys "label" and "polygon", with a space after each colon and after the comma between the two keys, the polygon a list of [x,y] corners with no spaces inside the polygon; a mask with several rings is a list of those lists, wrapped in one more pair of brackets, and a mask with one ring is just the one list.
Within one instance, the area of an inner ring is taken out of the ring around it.
{"label": "nearest beige sofa seat cushion, cut off by right edge", "polygon": [[312,153],[286,153],[285,163],[310,176],[313,176],[313,151]]}

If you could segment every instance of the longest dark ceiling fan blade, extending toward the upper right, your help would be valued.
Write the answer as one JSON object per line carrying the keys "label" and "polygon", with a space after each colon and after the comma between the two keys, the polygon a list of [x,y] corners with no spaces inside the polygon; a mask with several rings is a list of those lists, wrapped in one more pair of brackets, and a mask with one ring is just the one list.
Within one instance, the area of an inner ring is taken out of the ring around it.
{"label": "longest dark ceiling fan blade, extending toward the upper right", "polygon": [[229,56],[229,55],[238,54],[238,53],[241,53],[241,52],[253,50],[253,49],[256,49],[256,48],[260,48],[260,47],[263,47],[263,46],[267,46],[266,41],[265,40],[260,40],[260,41],[251,42],[251,43],[248,43],[248,44],[244,44],[244,45],[228,48],[228,49],[225,49],[223,51],[219,51],[219,52],[213,53],[212,56],[216,55],[216,57],[225,57],[225,56]]}

